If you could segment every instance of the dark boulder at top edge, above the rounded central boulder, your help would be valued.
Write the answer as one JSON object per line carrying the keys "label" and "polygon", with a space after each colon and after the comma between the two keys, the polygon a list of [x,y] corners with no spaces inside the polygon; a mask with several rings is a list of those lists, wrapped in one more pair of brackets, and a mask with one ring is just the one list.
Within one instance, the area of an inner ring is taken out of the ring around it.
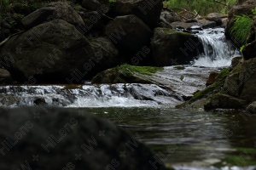
{"label": "dark boulder at top edge, above the rounded central boulder", "polygon": [[117,15],[135,14],[150,28],[157,26],[162,8],[162,0],[117,0],[114,6]]}

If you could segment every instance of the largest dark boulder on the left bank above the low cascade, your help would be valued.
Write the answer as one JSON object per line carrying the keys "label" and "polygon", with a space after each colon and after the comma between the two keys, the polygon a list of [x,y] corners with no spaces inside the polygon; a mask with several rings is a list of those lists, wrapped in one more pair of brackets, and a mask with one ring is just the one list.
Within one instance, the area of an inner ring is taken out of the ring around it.
{"label": "largest dark boulder on the left bank above the low cascade", "polygon": [[97,60],[87,38],[65,20],[52,20],[11,37],[0,56],[15,80],[34,77],[38,83],[67,83],[68,77],[81,82],[90,71],[84,64]]}

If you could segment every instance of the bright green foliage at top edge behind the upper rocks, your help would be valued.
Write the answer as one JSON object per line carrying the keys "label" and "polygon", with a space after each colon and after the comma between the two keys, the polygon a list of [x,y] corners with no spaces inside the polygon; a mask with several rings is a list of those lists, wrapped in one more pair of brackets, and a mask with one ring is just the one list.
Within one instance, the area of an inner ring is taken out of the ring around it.
{"label": "bright green foliage at top edge behind the upper rocks", "polygon": [[199,12],[201,15],[207,15],[214,12],[227,14],[230,7],[236,3],[236,0],[218,1],[228,4],[228,6],[226,7],[213,0],[167,0],[164,2],[164,5],[167,8],[186,8],[189,11],[195,11],[196,13]]}

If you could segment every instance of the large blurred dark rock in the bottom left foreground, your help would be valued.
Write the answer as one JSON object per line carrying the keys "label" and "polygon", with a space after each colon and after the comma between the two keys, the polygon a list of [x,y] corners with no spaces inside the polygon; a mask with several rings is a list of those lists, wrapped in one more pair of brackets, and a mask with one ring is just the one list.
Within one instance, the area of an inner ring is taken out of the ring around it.
{"label": "large blurred dark rock in the bottom left foreground", "polygon": [[149,163],[154,155],[139,142],[140,134],[130,136],[97,116],[46,107],[0,113],[0,140],[6,142],[1,169],[166,169]]}

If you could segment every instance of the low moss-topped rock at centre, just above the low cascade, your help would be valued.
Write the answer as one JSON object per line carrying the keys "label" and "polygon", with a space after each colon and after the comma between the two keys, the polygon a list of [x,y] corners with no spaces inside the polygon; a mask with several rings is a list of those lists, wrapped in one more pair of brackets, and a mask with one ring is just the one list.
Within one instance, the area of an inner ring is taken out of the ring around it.
{"label": "low moss-topped rock at centre, just above the low cascade", "polygon": [[102,71],[93,77],[92,83],[152,83],[150,76],[156,71],[162,71],[161,67],[119,65]]}

